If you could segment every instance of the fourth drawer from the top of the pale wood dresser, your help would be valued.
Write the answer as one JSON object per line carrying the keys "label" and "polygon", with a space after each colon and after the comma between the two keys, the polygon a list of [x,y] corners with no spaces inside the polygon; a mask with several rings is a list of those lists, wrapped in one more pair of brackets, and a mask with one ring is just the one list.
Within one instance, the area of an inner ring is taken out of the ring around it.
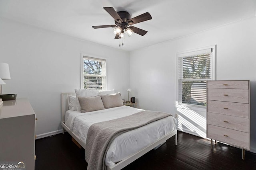
{"label": "fourth drawer from the top of the pale wood dresser", "polygon": [[249,133],[249,119],[244,117],[236,117],[208,112],[207,124]]}

